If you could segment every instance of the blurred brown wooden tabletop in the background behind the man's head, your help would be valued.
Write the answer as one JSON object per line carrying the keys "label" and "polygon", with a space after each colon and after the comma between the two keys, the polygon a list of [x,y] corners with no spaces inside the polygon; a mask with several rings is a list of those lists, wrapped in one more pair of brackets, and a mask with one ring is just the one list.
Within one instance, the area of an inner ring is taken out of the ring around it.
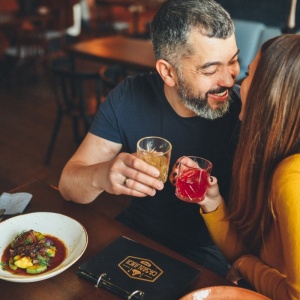
{"label": "blurred brown wooden tabletop in the background behind the man's head", "polygon": [[75,43],[67,51],[76,60],[85,58],[100,63],[120,64],[135,71],[154,71],[155,58],[148,40],[123,36],[94,38]]}

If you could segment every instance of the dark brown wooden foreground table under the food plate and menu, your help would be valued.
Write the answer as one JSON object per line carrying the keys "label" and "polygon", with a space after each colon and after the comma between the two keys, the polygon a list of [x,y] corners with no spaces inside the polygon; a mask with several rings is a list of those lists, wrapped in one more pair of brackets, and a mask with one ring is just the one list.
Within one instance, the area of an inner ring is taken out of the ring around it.
{"label": "dark brown wooden foreground table under the food plate and menu", "polygon": [[[214,285],[232,285],[219,275],[202,268],[194,262],[180,256],[166,247],[138,234],[121,223],[106,217],[97,209],[97,205],[82,205],[63,200],[59,191],[44,182],[34,182],[21,186],[13,192],[28,192],[33,195],[24,213],[56,212],[72,217],[79,221],[87,230],[88,246],[83,256],[63,273],[47,280],[33,283],[15,283],[0,280],[1,299],[30,299],[30,300],[114,300],[119,296],[103,288],[95,288],[90,282],[80,278],[76,271],[78,267],[91,256],[120,236],[152,247],[164,254],[182,262],[202,269],[199,277],[186,292]],[[96,201],[101,201],[107,194],[102,194]],[[115,196],[122,197],[122,196]],[[47,220],[45,220],[46,222]],[[5,222],[5,221],[4,221]],[[159,297],[158,297],[159,299]],[[170,299],[173,300],[173,299]]]}

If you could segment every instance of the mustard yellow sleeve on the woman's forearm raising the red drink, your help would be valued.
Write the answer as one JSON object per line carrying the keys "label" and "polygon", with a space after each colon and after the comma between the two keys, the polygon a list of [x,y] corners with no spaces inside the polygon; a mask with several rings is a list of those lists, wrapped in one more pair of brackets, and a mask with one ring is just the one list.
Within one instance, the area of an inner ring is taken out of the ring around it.
{"label": "mustard yellow sleeve on the woman's forearm raising the red drink", "polygon": [[219,250],[229,262],[234,262],[246,253],[242,243],[237,239],[236,231],[226,219],[226,205],[224,201],[213,212],[204,213],[200,209],[209,233]]}

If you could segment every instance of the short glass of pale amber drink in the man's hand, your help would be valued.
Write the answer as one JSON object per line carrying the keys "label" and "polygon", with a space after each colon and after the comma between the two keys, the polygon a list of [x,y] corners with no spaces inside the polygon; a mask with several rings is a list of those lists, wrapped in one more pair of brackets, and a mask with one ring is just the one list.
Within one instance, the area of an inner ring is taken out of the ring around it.
{"label": "short glass of pale amber drink in the man's hand", "polygon": [[137,142],[137,157],[156,167],[160,172],[158,179],[164,183],[168,178],[171,151],[171,143],[161,137],[144,137]]}

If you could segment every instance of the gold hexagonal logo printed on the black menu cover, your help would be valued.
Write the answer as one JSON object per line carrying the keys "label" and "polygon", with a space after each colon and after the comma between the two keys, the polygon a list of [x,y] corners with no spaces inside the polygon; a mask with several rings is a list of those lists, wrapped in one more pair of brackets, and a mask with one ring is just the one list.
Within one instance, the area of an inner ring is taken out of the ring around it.
{"label": "gold hexagonal logo printed on the black menu cover", "polygon": [[163,271],[151,260],[127,256],[118,266],[130,278],[154,282],[163,274]]}

